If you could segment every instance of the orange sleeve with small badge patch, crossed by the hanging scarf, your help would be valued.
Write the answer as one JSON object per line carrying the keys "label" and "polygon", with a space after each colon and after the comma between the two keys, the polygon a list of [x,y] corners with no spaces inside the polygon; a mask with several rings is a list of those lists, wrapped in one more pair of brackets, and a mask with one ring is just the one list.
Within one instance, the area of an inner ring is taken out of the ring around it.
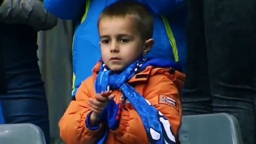
{"label": "orange sleeve with small badge patch, crossed by the hanging scarf", "polygon": [[[170,78],[163,75],[155,75],[154,78],[149,78],[148,84],[142,95],[167,117],[174,135],[177,136],[182,114],[180,95],[176,85]],[[159,103],[161,95],[165,95],[177,102],[177,107],[167,105],[167,103]],[[146,131],[137,111],[128,104],[124,107],[119,127],[114,131],[116,138],[119,141],[125,141],[125,143],[148,143]]]}

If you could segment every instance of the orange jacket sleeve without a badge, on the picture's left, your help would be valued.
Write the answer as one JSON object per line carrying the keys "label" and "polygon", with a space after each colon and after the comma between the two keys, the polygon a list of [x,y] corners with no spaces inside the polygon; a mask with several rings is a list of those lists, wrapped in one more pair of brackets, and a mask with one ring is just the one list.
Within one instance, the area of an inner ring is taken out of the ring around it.
{"label": "orange jacket sleeve without a badge, on the picture's left", "polygon": [[60,119],[60,137],[67,144],[96,143],[96,140],[102,137],[102,125],[97,130],[89,130],[86,126],[86,117],[90,114],[89,105],[87,105],[90,97],[85,82],[82,82],[76,93],[76,100],[70,102]]}

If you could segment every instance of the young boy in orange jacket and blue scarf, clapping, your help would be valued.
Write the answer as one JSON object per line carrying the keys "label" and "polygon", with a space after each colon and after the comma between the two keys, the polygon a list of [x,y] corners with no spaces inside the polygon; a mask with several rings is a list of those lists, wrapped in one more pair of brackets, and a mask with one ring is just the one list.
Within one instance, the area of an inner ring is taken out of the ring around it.
{"label": "young boy in orange jacket and blue scarf, clapping", "polygon": [[119,1],[102,11],[98,29],[102,58],[61,118],[61,138],[72,144],[178,142],[185,75],[170,61],[143,59],[154,44],[151,13]]}

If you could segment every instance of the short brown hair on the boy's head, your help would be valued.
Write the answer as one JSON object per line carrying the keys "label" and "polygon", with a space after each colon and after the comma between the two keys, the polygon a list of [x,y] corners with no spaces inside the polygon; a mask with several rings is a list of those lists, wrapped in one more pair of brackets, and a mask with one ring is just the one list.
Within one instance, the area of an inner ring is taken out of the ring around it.
{"label": "short brown hair on the boy's head", "polygon": [[149,39],[153,37],[154,20],[153,15],[146,6],[135,1],[117,1],[105,7],[100,14],[99,21],[104,17],[125,17],[126,15],[135,15],[137,18],[138,29],[142,38]]}

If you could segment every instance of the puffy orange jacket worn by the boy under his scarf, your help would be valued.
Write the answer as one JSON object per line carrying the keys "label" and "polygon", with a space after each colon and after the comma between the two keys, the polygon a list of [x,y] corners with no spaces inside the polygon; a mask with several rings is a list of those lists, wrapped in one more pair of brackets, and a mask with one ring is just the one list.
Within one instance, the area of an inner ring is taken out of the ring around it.
{"label": "puffy orange jacket worn by the boy under his scarf", "polygon": [[[87,102],[89,98],[95,98],[94,81],[99,65],[98,63],[94,67],[93,75],[82,82],[76,93],[76,100],[70,102],[60,119],[60,136],[68,144],[96,143],[104,132],[103,124],[95,131],[89,130],[85,124],[86,116],[90,113]],[[180,97],[184,81],[185,75],[179,71],[170,74],[169,68],[148,66],[128,82],[169,119],[177,138],[182,117]],[[114,100],[120,102],[121,92],[114,90],[113,93],[116,94]],[[166,102],[166,98],[174,100],[176,105]],[[115,131],[109,131],[106,143],[149,143],[140,116],[131,103],[123,106],[119,127]]]}

